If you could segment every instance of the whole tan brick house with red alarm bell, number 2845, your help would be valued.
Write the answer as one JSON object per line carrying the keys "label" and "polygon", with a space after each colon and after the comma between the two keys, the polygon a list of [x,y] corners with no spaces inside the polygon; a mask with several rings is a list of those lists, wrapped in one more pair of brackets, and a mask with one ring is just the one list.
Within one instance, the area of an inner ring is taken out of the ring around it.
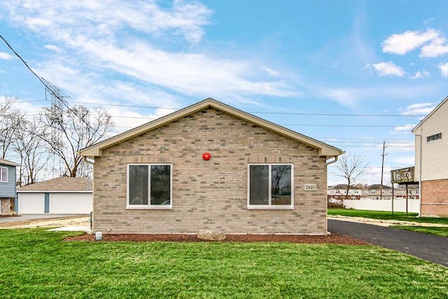
{"label": "whole tan brick house with red alarm bell, number 2845", "polygon": [[342,153],[214,99],[80,151],[94,162],[94,232],[317,235]]}

